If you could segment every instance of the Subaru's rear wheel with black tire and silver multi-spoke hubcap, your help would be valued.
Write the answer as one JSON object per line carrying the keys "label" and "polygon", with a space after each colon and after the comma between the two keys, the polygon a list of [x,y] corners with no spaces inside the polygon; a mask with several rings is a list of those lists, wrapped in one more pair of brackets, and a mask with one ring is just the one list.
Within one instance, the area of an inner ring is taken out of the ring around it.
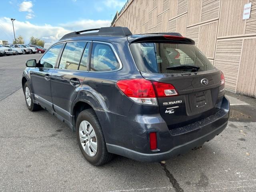
{"label": "Subaru's rear wheel with black tire and silver multi-spoke hubcap", "polygon": [[[86,122],[89,124],[86,124]],[[80,128],[80,124],[81,124],[81,128]],[[86,129],[83,129],[82,125],[84,125]],[[91,126],[92,126],[92,130],[90,131]],[[87,136],[89,137],[89,139],[86,136],[86,134],[84,134],[83,130],[86,130],[88,134]],[[86,158],[86,160],[90,162],[92,165],[100,166],[100,165],[106,164],[112,159],[113,154],[107,151],[106,142],[100,126],[100,122],[93,109],[84,110],[80,112],[80,114],[78,115],[78,118],[76,120],[76,138],[84,158]],[[80,138],[82,139],[83,143],[81,143]],[[95,146],[95,143],[97,148],[96,152],[95,150],[92,150],[93,146]],[[82,146],[82,144],[84,146]],[[86,149],[88,149],[88,145],[89,145],[90,152],[86,153]],[[92,154],[89,155],[90,153]]]}

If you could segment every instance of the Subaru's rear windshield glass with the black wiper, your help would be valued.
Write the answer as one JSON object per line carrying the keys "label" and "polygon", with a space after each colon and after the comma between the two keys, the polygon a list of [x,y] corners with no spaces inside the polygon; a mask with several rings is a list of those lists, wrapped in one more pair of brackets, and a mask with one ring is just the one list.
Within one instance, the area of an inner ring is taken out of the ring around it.
{"label": "Subaru's rear windshield glass with the black wiper", "polygon": [[142,72],[179,74],[214,69],[195,45],[146,42],[133,43],[130,50]]}

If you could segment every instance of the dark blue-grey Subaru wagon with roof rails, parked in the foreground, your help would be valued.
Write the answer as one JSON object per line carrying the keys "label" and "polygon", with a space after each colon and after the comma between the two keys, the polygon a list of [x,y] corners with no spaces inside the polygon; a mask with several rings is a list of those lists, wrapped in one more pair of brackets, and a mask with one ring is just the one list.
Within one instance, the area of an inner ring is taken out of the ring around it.
{"label": "dark blue-grey Subaru wagon with roof rails, parked in the foreground", "polygon": [[88,162],[102,165],[112,154],[160,162],[226,128],[224,75],[193,40],[90,31],[64,35],[38,62],[28,60],[22,77],[28,109],[41,106],[75,130]]}

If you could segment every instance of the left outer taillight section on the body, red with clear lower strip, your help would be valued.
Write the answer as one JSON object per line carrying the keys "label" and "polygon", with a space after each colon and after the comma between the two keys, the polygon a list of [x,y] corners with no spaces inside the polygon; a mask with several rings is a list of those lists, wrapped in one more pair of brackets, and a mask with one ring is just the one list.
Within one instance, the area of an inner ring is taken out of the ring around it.
{"label": "left outer taillight section on the body, red with clear lower strip", "polygon": [[137,103],[157,105],[153,84],[146,79],[119,80],[116,85],[130,99]]}

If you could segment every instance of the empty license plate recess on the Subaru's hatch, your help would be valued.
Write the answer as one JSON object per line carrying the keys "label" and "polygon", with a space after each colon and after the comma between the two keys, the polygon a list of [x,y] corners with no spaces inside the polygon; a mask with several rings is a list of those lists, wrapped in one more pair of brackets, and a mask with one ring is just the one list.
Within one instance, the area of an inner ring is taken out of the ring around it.
{"label": "empty license plate recess on the Subaru's hatch", "polygon": [[188,115],[195,115],[212,108],[212,94],[211,90],[204,90],[189,94],[190,111]]}

